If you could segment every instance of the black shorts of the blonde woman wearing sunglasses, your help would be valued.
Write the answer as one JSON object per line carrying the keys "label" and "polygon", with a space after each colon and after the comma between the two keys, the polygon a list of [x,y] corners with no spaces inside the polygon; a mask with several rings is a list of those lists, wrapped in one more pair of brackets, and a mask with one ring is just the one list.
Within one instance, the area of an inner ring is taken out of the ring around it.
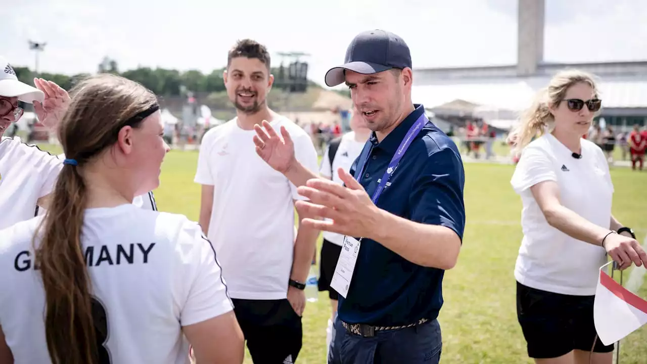
{"label": "black shorts of the blonde woman wearing sunglasses", "polygon": [[590,352],[591,348],[593,352],[612,352],[613,344],[606,346],[597,338],[594,299],[537,290],[517,282],[517,318],[528,356],[557,358],[575,349]]}

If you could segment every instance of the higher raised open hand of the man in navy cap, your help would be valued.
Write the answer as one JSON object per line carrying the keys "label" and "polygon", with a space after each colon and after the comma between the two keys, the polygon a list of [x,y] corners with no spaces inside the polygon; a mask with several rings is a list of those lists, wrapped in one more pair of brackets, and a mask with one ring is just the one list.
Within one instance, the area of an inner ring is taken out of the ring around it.
{"label": "higher raised open hand of the man in navy cap", "polygon": [[278,135],[267,120],[263,120],[263,126],[254,125],[256,135],[256,153],[272,168],[285,174],[296,162],[294,157],[294,142],[290,134],[281,126],[281,135]]}

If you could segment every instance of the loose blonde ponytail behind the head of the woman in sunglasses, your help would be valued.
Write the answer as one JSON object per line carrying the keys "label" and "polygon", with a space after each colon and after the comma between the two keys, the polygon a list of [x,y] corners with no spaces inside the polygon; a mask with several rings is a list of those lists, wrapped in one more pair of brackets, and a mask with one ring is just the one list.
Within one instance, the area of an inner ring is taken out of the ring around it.
{"label": "loose blonde ponytail behind the head of the woman in sunglasses", "polygon": [[532,138],[543,135],[545,129],[553,122],[548,96],[547,89],[540,90],[530,108],[521,114],[517,128],[510,132],[507,142],[512,144],[513,154],[520,155]]}

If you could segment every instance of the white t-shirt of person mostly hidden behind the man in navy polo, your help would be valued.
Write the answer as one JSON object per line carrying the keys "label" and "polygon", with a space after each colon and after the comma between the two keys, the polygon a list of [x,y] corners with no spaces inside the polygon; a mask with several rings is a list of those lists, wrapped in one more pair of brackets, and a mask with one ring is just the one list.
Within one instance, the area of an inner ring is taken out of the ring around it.
{"label": "white t-shirt of person mostly hidden behind the man in navy polo", "polygon": [[[364,144],[366,144],[366,142],[358,142],[355,140],[355,131],[349,131],[348,133],[345,133],[342,136],[342,140],[339,142],[337,152],[333,157],[333,168],[331,168],[330,159],[328,158],[328,150],[330,147],[327,147],[322,155],[322,166],[319,170],[319,174],[332,179],[334,182],[339,183],[340,185],[343,185],[344,182],[339,178],[337,170],[339,168],[343,168],[346,172],[349,172],[351,170],[353,162],[355,162],[355,159],[357,159],[357,157],[359,157],[359,155],[362,153]],[[323,238],[333,244],[339,246],[344,245],[344,235],[324,231]]]}

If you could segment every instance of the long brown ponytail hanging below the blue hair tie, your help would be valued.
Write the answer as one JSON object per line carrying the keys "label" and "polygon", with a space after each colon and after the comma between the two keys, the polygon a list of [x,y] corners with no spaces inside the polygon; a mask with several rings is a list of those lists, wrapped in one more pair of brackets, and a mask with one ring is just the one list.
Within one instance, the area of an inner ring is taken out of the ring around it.
{"label": "long brown ponytail hanging below the blue hair tie", "polygon": [[81,244],[87,187],[77,166],[63,165],[36,251],[45,288],[45,337],[53,364],[97,362],[91,281]]}

